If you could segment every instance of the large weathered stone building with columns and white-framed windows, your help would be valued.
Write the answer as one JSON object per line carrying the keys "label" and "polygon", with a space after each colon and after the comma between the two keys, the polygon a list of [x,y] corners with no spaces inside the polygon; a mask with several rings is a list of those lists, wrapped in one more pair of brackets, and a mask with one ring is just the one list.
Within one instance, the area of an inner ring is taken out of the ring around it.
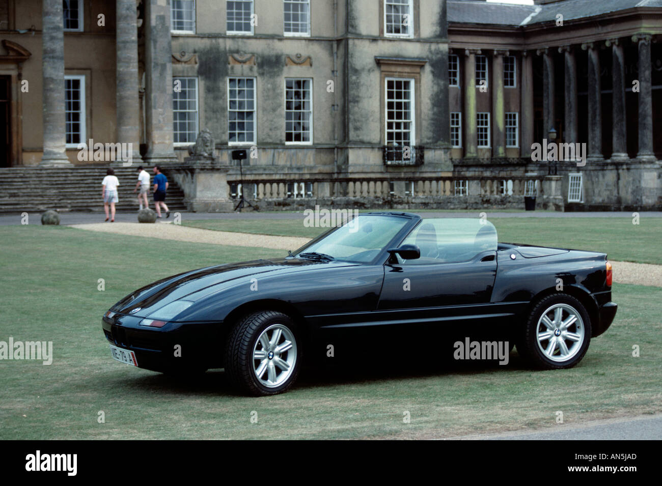
{"label": "large weathered stone building with columns and white-framed windows", "polygon": [[0,0],[0,166],[120,163],[93,140],[193,209],[659,209],[661,33],[662,0]]}

